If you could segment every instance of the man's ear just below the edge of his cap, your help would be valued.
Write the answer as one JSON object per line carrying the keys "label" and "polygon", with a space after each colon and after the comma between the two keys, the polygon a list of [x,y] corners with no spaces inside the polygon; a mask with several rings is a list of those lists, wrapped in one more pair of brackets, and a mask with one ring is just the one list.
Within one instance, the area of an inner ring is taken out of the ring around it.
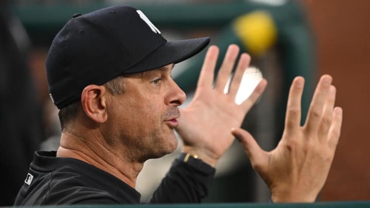
{"label": "man's ear just below the edge of his cap", "polygon": [[107,118],[107,89],[104,86],[88,85],[81,93],[82,107],[85,114],[97,123],[104,123]]}

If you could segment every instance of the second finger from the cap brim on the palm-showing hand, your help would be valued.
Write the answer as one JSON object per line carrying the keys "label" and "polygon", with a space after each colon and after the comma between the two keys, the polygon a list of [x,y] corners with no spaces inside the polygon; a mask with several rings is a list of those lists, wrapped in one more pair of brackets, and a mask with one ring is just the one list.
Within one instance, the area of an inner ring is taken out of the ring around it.
{"label": "second finger from the cap brim on the palm-showing hand", "polygon": [[219,69],[218,74],[217,74],[217,80],[216,80],[216,84],[214,87],[215,89],[224,91],[225,85],[227,81],[229,80],[230,72],[232,71],[234,67],[235,60],[237,58],[238,53],[239,53],[239,47],[237,45],[232,44],[229,46],[226,52],[225,58],[224,58],[224,62],[221,65],[221,68]]}

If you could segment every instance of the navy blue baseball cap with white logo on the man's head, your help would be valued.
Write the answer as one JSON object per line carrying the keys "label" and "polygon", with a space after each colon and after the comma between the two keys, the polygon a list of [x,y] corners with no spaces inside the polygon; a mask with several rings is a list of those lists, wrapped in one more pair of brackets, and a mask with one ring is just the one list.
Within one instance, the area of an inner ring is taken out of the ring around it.
{"label": "navy blue baseball cap with white logo on the man's head", "polygon": [[143,12],[113,6],[75,14],[55,36],[46,60],[49,93],[63,108],[90,84],[189,59],[209,37],[168,42]]}

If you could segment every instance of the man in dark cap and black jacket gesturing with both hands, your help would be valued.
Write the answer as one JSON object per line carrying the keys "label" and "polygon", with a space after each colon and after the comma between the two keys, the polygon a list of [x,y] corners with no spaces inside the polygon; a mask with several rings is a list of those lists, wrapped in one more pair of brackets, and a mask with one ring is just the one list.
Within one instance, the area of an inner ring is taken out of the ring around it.
{"label": "man in dark cap and black jacket gesturing with both hands", "polygon": [[266,153],[237,128],[267,85],[262,80],[244,103],[234,103],[250,61],[247,54],[240,56],[224,93],[239,52],[235,45],[229,47],[213,87],[218,49],[209,48],[194,100],[180,117],[185,94],[171,71],[208,43],[208,38],[167,42],[132,7],[73,15],[55,37],[46,62],[50,96],[60,109],[61,144],[57,152],[35,153],[15,205],[139,203],[137,175],[147,159],[173,152],[175,129],[183,153],[151,203],[200,202],[234,136],[268,184],[273,201],[315,201],[341,128],[331,77],[321,78],[303,127],[304,80],[293,81],[283,138]]}

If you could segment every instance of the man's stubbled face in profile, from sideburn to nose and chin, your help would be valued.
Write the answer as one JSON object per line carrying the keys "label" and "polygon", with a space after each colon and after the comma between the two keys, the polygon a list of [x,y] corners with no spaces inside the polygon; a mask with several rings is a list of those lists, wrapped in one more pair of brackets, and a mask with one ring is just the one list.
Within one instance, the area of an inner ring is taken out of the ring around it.
{"label": "man's stubbled face in profile, from sideburn to nose and chin", "polygon": [[177,147],[177,106],[186,96],[172,80],[172,68],[173,64],[125,75],[124,92],[110,97],[106,133],[134,160],[162,157]]}

